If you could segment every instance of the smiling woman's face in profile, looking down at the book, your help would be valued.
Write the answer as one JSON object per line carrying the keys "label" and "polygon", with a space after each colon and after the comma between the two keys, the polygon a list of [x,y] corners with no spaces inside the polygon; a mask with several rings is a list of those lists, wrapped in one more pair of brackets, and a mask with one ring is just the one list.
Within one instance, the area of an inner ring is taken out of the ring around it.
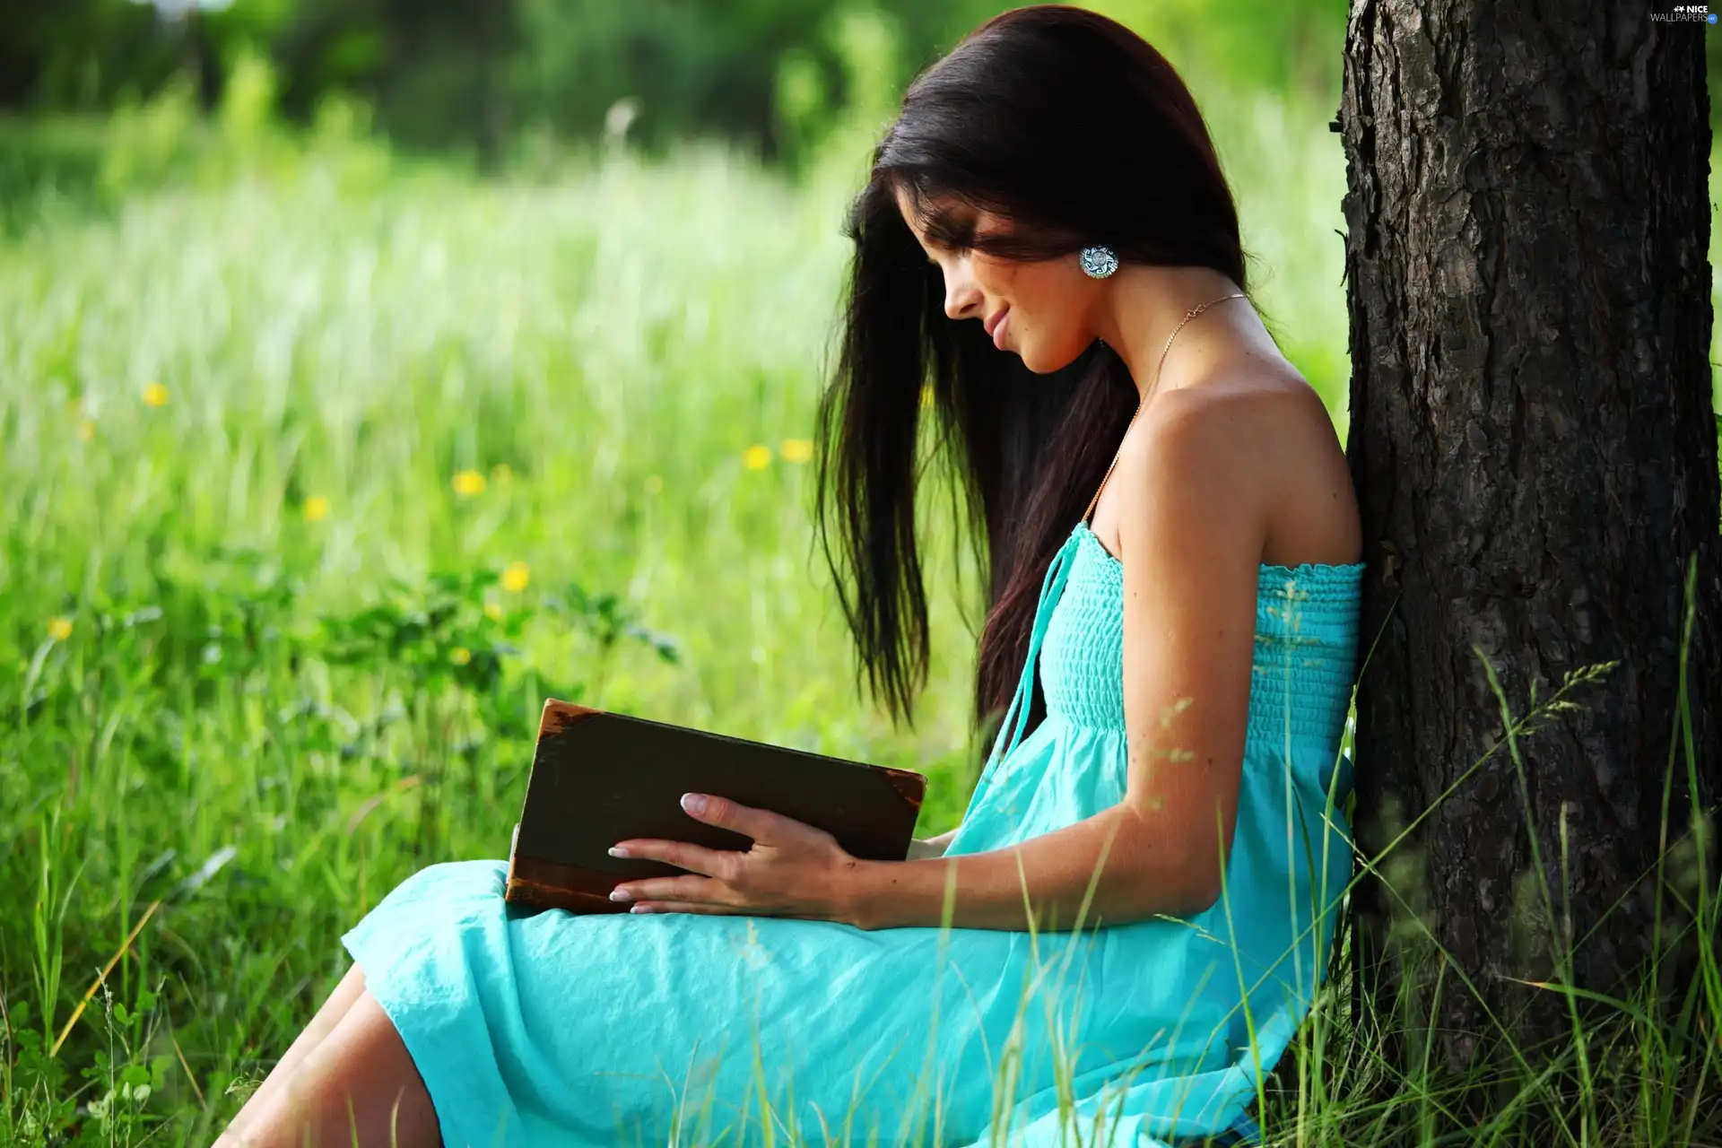
{"label": "smiling woman's face in profile, looking down at the book", "polygon": [[[1093,343],[1088,315],[1102,287],[1081,272],[1075,255],[1025,263],[983,251],[952,251],[928,241],[901,189],[897,210],[928,262],[945,275],[945,315],[982,324],[994,346],[1016,351],[1023,365],[1040,375],[1066,367]],[[978,236],[1009,231],[1009,220],[1000,215],[957,210],[973,213]]]}

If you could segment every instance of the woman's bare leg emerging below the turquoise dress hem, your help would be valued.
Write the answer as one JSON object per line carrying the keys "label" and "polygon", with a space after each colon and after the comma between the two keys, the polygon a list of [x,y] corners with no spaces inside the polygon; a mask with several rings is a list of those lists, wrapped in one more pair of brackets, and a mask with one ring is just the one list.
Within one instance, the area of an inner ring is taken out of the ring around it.
{"label": "woman's bare leg emerging below the turquoise dress hem", "polygon": [[262,1103],[250,1122],[236,1120],[215,1148],[300,1148],[307,1134],[313,1145],[351,1145],[356,1136],[360,1148],[443,1143],[418,1069],[370,993],[360,993],[281,1088],[255,1100]]}

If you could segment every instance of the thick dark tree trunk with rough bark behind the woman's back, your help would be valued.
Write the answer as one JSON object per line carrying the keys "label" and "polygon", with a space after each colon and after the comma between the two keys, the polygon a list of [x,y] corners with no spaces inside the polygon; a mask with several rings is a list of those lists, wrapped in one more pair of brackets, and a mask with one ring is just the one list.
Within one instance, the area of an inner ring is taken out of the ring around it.
{"label": "thick dark tree trunk with rough bark behind the woman's back", "polygon": [[[1353,1003],[1383,1029],[1436,1024],[1450,1069],[1502,1036],[1570,1038],[1564,995],[1508,979],[1565,979],[1569,952],[1567,983],[1631,998],[1653,945],[1684,945],[1658,983],[1688,988],[1698,941],[1672,893],[1655,938],[1669,780],[1667,847],[1691,836],[1698,854],[1663,883],[1694,905],[1701,862],[1715,885],[1689,785],[1708,809],[1722,780],[1705,28],[1619,0],[1352,7],[1338,131],[1367,561],[1360,854],[1433,807],[1381,878],[1360,873]],[[1521,769],[1484,659],[1514,719],[1617,664],[1519,737]],[[1431,936],[1440,971],[1422,964]]]}

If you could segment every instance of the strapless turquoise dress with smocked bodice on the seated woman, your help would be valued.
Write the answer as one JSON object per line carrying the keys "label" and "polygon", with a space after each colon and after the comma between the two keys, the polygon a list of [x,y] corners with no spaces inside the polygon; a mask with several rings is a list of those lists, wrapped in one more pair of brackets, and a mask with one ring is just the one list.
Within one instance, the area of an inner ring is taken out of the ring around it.
{"label": "strapless turquoise dress with smocked bodice on the seated woman", "polygon": [[[449,1148],[763,1145],[761,1100],[773,1143],[1255,1141],[1247,1108],[1310,1009],[1352,876],[1338,747],[1360,575],[1261,568],[1236,831],[1224,893],[1193,917],[1031,935],[518,916],[505,864],[470,861],[403,881],[344,943]],[[1078,523],[947,854],[1123,799],[1121,590]],[[1037,656],[1047,716],[1021,737]]]}

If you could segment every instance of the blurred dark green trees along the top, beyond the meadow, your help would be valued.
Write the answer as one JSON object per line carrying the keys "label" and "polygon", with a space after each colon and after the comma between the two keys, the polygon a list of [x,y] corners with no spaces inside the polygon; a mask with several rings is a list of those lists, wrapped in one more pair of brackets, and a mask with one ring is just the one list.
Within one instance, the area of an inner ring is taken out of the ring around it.
{"label": "blurred dark green trees along the top, beyond the meadow", "polygon": [[[1226,83],[1338,105],[1343,0],[1111,0],[1099,10]],[[854,12],[892,34],[902,83],[1000,10],[987,0],[0,0],[0,108],[112,112],[188,84],[215,108],[246,60],[312,124],[362,100],[396,146],[501,162],[525,138],[642,148],[723,136],[794,162],[864,98],[844,55]],[[620,107],[618,107],[620,103]]]}

